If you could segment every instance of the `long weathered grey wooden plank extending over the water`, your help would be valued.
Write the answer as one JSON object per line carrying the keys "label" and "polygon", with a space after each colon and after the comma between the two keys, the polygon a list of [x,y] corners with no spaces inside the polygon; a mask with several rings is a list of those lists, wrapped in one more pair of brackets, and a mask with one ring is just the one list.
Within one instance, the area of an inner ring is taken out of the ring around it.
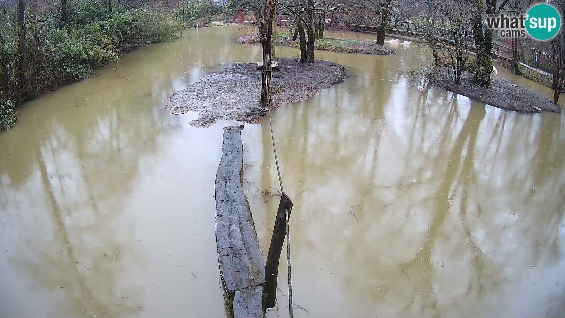
{"label": "long weathered grey wooden plank extending over the water", "polygon": [[249,203],[242,189],[241,127],[224,127],[222,156],[216,174],[216,244],[220,276],[228,291],[265,281],[260,250]]}

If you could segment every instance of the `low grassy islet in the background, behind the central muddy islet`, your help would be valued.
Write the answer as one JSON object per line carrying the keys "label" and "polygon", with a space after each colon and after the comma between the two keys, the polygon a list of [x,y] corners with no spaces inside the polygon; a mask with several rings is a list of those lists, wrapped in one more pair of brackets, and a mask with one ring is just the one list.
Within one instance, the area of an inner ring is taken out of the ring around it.
{"label": "low grassy islet in the background, behind the central muddy islet", "polygon": [[[237,39],[240,43],[259,43],[260,38],[258,35],[250,35],[240,37]],[[300,42],[288,40],[286,33],[277,33],[276,42],[281,45],[292,46],[293,48],[300,48]],[[365,54],[390,54],[393,50],[385,48],[384,46],[370,44],[362,41],[351,40],[349,38],[333,38],[324,37],[316,38],[314,42],[315,50],[336,51],[344,53],[365,53]]]}

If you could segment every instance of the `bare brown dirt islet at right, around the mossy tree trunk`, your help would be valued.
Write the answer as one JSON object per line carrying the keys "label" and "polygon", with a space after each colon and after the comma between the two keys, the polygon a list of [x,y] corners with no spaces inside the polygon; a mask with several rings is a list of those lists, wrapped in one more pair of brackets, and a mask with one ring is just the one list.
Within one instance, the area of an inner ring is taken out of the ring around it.
{"label": "bare brown dirt islet at right, around the mossy tree trunk", "polygon": [[453,71],[442,67],[435,75],[428,75],[433,84],[454,93],[462,94],[485,104],[501,109],[514,110],[520,113],[540,113],[541,111],[553,111],[559,113],[559,106],[553,104],[549,98],[534,92],[531,89],[513,84],[507,79],[493,76],[490,79],[490,87],[482,88],[471,84],[473,75],[464,72],[461,83],[455,84]]}

